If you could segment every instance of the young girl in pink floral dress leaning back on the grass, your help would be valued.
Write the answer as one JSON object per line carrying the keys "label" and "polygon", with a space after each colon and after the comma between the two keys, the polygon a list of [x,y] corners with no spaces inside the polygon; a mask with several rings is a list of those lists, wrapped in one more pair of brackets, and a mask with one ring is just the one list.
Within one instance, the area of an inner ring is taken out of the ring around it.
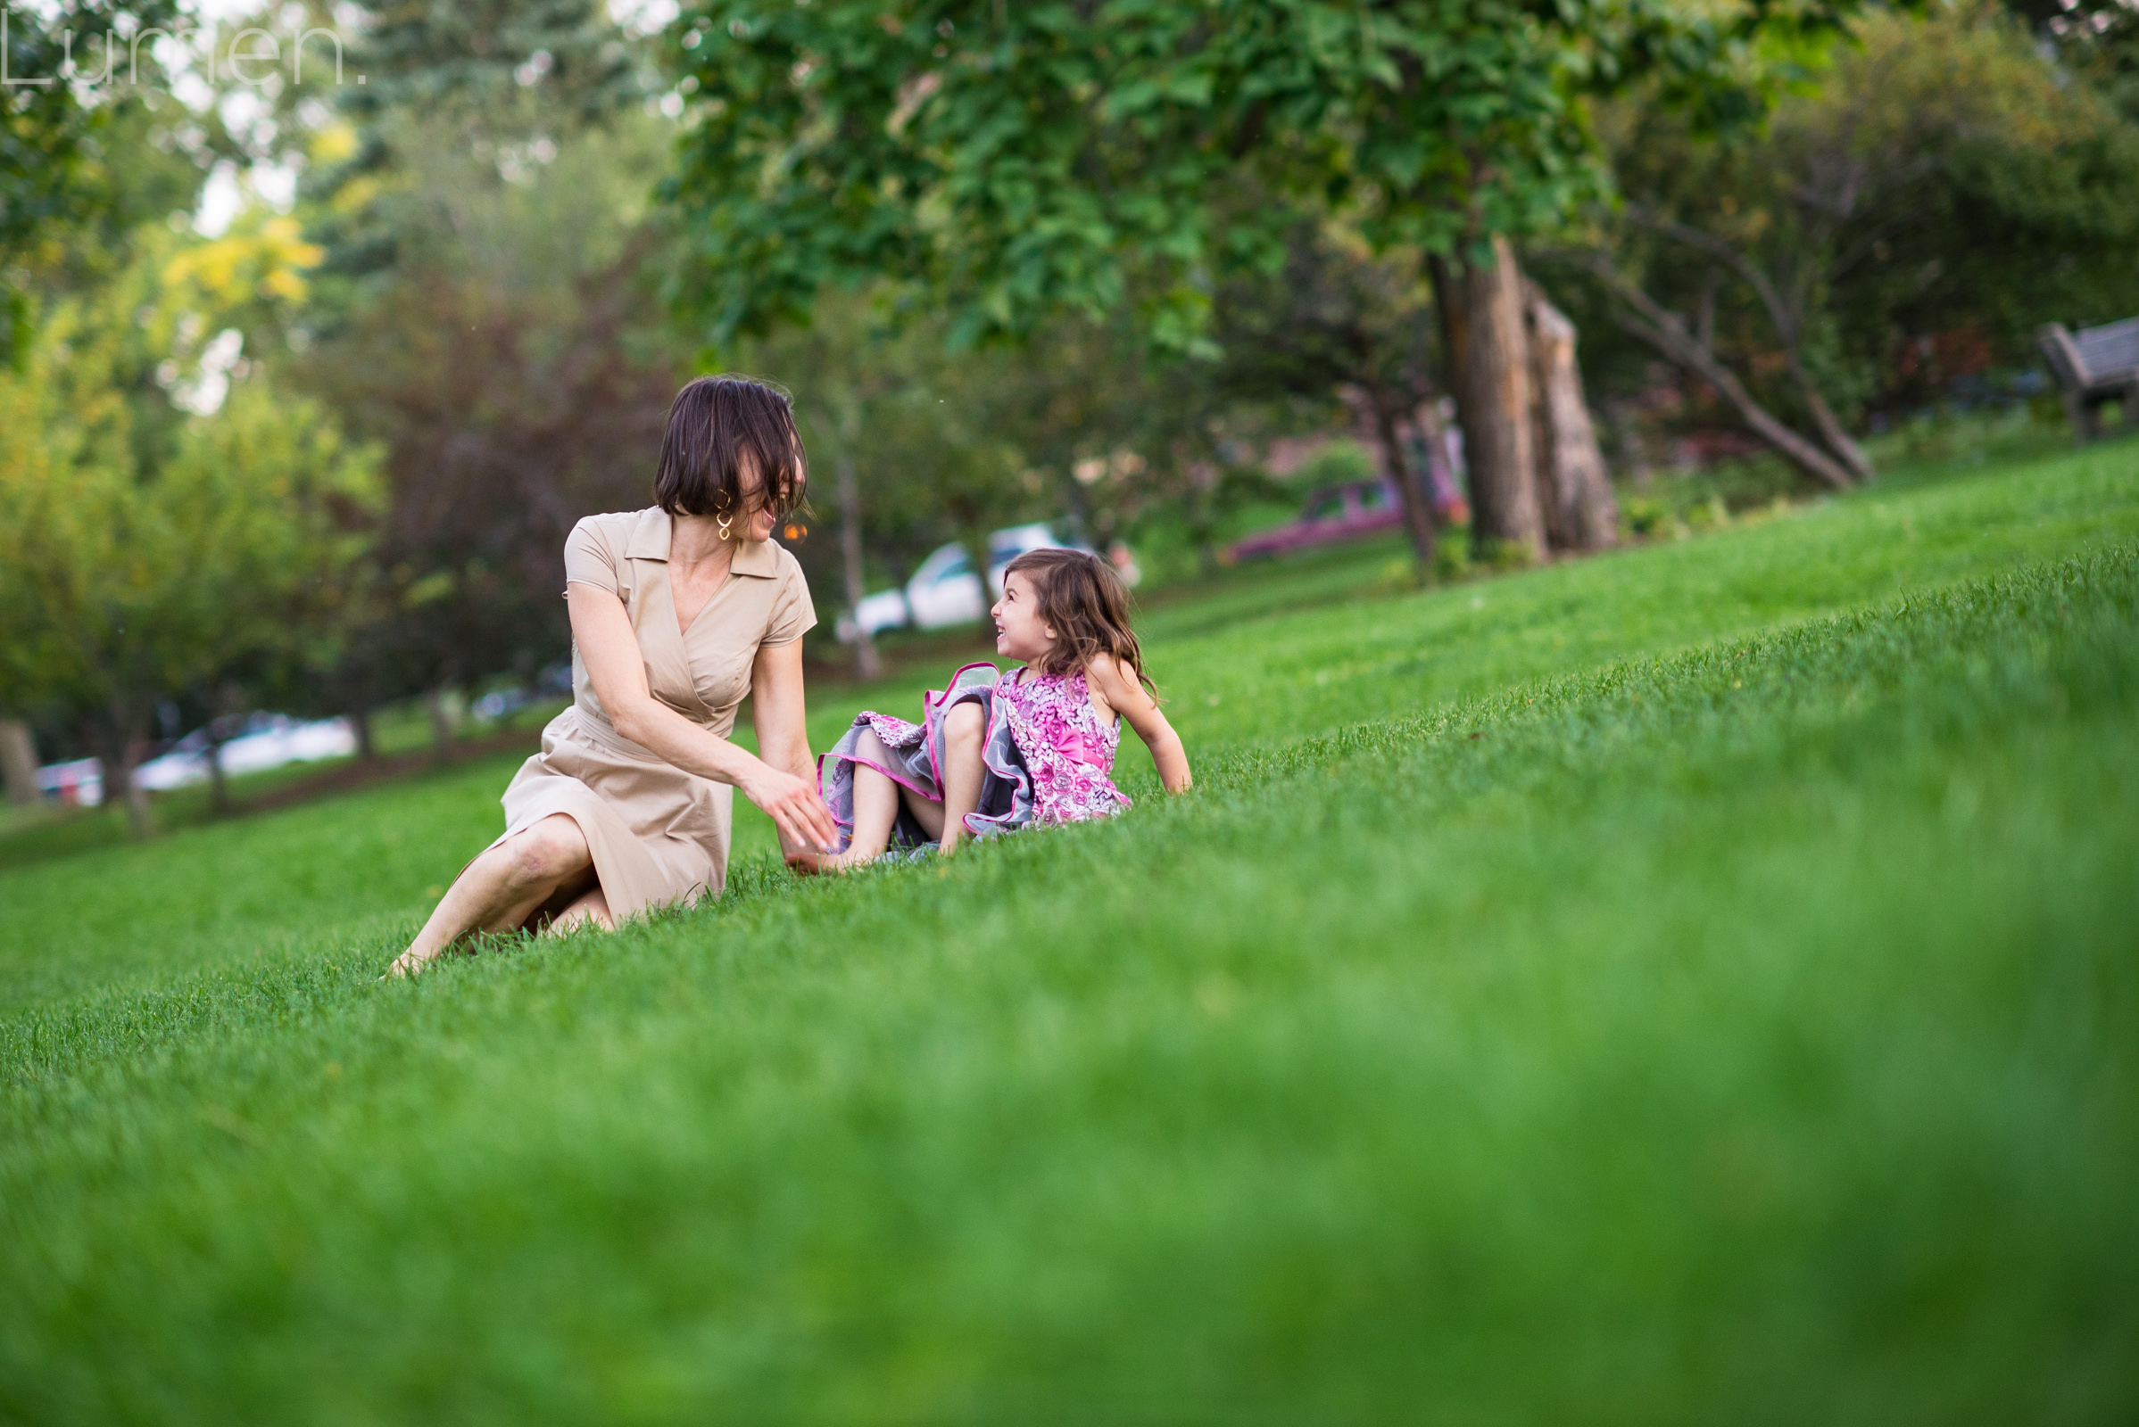
{"label": "young girl in pink floral dress leaning back on the grass", "polygon": [[1112,780],[1123,718],[1166,790],[1189,786],[1181,735],[1144,688],[1129,600],[1104,560],[1074,549],[1018,555],[988,615],[997,654],[1025,669],[967,664],[950,690],[922,701],[920,724],[856,718],[817,765],[841,846],[794,859],[798,867],[843,872],[894,844],[954,852],[965,833],[1108,818],[1129,805]]}

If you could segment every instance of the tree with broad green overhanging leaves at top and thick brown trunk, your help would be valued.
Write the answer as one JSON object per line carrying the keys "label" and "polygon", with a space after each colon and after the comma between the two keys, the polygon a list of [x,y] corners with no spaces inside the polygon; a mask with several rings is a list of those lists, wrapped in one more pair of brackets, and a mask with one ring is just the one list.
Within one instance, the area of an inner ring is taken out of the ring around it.
{"label": "tree with broad green overhanging leaves at top and thick brown trunk", "polygon": [[[958,338],[1136,301],[1194,350],[1215,280],[1279,267],[1296,218],[1337,214],[1378,254],[1442,258],[1478,532],[1536,547],[1506,239],[1602,192],[1585,96],[1698,75],[1844,2],[1713,23],[1647,0],[710,0],[674,28],[697,96],[672,190],[691,299],[721,335],[888,273],[939,295]],[[1277,201],[1243,209],[1243,184]]]}

